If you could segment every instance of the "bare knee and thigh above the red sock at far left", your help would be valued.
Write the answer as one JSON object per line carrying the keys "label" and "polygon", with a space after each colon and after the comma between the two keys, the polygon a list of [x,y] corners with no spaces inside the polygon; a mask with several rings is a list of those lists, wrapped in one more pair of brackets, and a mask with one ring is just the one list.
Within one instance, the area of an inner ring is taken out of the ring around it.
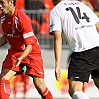
{"label": "bare knee and thigh above the red sock at far left", "polygon": [[10,80],[15,74],[16,74],[15,71],[9,69],[3,69],[0,74],[0,78],[5,80]]}

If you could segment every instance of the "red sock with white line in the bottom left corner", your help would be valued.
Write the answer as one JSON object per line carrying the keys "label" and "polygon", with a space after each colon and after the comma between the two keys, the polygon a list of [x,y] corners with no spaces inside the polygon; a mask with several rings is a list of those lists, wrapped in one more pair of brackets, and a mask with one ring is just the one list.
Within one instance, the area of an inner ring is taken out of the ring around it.
{"label": "red sock with white line in the bottom left corner", "polygon": [[9,99],[10,93],[10,81],[0,80],[0,99]]}

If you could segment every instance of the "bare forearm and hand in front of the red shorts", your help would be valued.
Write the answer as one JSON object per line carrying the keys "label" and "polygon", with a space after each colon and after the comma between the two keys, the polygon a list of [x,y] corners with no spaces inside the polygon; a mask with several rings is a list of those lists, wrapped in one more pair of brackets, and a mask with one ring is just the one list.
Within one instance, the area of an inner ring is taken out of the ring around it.
{"label": "bare forearm and hand in front of the red shorts", "polygon": [[27,45],[22,55],[16,60],[15,67],[19,66],[21,61],[28,56],[28,54],[32,51],[32,45]]}

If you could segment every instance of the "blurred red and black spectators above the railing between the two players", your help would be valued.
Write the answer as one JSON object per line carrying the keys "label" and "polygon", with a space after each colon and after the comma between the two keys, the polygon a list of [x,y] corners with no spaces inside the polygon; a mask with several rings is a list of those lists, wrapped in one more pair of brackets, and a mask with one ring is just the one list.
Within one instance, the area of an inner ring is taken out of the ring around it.
{"label": "blurred red and black spectators above the railing between the two players", "polygon": [[52,0],[16,0],[16,7],[26,10],[38,10],[44,8],[51,10],[54,5]]}

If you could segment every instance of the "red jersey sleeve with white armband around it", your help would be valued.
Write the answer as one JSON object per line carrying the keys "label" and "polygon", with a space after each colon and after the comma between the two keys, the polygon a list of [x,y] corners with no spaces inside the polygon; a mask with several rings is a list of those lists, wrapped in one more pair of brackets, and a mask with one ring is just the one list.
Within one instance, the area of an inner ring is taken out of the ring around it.
{"label": "red jersey sleeve with white armband around it", "polygon": [[31,25],[31,19],[28,16],[23,20],[22,34],[26,45],[33,44],[35,37]]}

